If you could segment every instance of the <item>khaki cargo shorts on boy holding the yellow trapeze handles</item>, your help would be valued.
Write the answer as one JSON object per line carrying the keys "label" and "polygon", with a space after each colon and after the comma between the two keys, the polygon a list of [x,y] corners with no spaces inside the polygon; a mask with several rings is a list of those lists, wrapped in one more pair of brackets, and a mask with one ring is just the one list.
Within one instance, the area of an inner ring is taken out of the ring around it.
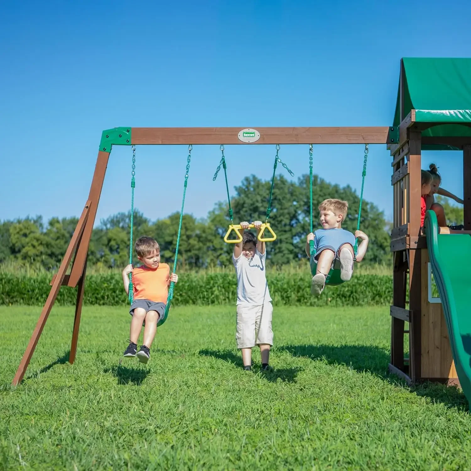
{"label": "khaki cargo shorts on boy holding the yellow trapeze handles", "polygon": [[267,343],[273,345],[271,302],[262,305],[237,304],[237,329],[235,340],[238,349],[247,349]]}

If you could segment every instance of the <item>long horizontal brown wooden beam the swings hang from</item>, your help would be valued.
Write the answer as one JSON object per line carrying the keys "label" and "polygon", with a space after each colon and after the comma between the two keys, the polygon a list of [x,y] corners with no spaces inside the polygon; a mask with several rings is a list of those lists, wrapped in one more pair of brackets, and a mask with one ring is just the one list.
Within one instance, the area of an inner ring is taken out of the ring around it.
{"label": "long horizontal brown wooden beam the swings hang from", "polygon": [[[132,144],[244,144],[240,128],[132,128]],[[387,144],[389,126],[251,128],[260,132],[254,144]]]}

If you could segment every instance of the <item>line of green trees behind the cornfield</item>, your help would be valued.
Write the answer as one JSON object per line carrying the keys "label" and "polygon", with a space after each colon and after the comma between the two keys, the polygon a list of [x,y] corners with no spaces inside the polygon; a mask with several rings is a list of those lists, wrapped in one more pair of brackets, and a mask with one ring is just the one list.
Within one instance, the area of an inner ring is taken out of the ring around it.
{"label": "line of green trees behind the cornfield", "polygon": [[[271,181],[256,176],[245,177],[235,187],[231,199],[234,222],[266,218]],[[359,196],[350,186],[340,187],[313,177],[314,229],[320,228],[317,206],[325,198],[340,198],[349,202],[349,213],[342,227],[355,232]],[[223,236],[229,224],[227,202],[218,202],[206,218],[196,219],[184,214],[179,246],[179,265],[183,269],[224,267],[232,263],[232,246]],[[57,269],[72,237],[78,218],[52,218],[44,223],[40,216],[0,223],[0,263],[15,261]],[[297,182],[282,175],[275,179],[270,222],[277,239],[267,244],[272,265],[281,266],[306,258],[304,252],[309,232],[309,175]],[[151,221],[139,211],[134,213],[134,240],[140,235],[154,237],[161,246],[162,260],[172,262],[179,226],[179,213]],[[390,261],[390,236],[384,214],[373,203],[363,201],[361,229],[370,237],[365,263]],[[118,213],[93,229],[89,265],[122,268],[129,261],[130,212]]]}

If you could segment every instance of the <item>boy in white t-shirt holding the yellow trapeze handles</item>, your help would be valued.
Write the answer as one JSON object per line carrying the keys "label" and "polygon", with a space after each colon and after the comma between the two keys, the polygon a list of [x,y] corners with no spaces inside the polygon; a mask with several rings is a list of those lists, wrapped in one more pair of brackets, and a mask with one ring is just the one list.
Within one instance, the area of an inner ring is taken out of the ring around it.
{"label": "boy in white t-shirt holding the yellow trapeze handles", "polygon": [[[265,243],[260,242],[241,222],[242,242],[234,245],[232,260],[237,275],[237,348],[242,350],[244,370],[252,368],[252,348],[260,347],[262,370],[268,369],[270,347],[273,345],[271,318],[273,307],[268,291],[265,260]],[[260,234],[261,221],[253,223]]]}

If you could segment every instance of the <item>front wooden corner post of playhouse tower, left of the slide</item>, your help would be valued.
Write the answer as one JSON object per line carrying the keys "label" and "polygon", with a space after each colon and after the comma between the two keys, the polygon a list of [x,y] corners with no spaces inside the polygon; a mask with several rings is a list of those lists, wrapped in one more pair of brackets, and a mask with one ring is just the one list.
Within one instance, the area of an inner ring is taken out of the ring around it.
{"label": "front wooden corner post of playhouse tower, left of the slide", "polygon": [[[409,135],[409,204],[410,235],[418,236],[421,227],[420,198],[421,179],[421,133],[410,131]],[[422,321],[422,284],[421,284],[421,251],[417,245],[409,249],[409,309],[412,311],[409,323],[410,377],[413,382],[421,379],[421,321]]]}

